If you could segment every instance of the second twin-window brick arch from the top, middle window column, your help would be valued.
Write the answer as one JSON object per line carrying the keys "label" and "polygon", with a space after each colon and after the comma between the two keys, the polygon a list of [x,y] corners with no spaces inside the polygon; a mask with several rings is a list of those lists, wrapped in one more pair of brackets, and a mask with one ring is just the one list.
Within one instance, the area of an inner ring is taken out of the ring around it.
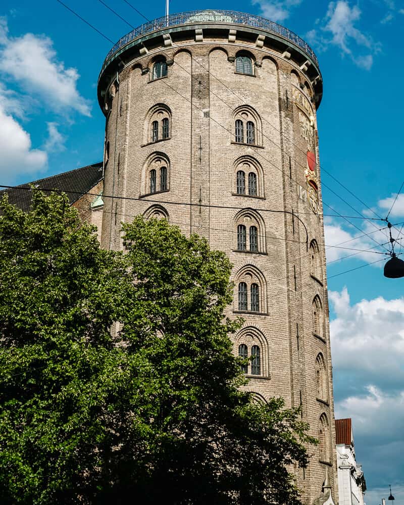
{"label": "second twin-window brick arch from the top, middle window column", "polygon": [[255,158],[238,158],[233,165],[233,173],[233,194],[264,197],[264,171]]}

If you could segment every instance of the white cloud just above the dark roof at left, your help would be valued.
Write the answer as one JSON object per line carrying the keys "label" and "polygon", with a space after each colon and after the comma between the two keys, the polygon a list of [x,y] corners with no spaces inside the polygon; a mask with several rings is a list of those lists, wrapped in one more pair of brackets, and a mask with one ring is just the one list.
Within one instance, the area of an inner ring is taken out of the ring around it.
{"label": "white cloud just above the dark roof at left", "polygon": [[31,174],[47,166],[44,150],[32,149],[28,132],[0,104],[0,176],[14,183],[19,174]]}

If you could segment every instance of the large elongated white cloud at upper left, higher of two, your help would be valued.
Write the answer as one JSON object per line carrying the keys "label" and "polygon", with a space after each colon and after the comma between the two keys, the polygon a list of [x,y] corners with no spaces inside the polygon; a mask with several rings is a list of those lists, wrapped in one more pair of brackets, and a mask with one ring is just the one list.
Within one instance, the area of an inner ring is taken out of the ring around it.
{"label": "large elongated white cloud at upper left, higher of two", "polygon": [[77,70],[58,61],[50,38],[32,33],[10,37],[5,18],[0,18],[0,45],[0,70],[25,90],[38,93],[56,112],[90,116],[89,102],[77,90]]}

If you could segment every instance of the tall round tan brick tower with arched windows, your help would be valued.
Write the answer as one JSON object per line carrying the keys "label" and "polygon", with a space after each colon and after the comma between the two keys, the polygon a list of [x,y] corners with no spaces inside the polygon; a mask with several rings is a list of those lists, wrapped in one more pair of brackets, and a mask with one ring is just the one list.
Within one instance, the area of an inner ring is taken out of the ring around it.
{"label": "tall round tan brick tower with arched windows", "polygon": [[[234,352],[258,401],[301,406],[306,503],[337,502],[332,368],[316,110],[322,78],[288,29],[233,11],[146,23],[108,54],[102,246],[120,223],[164,217],[233,264]],[[123,198],[120,198],[123,197]]]}

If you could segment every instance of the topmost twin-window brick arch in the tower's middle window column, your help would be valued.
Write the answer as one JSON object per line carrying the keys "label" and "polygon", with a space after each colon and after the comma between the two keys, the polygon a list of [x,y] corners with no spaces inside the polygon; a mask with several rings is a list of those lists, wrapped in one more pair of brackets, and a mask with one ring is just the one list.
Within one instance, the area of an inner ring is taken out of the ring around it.
{"label": "topmost twin-window brick arch in the tower's middle window column", "polygon": [[262,120],[249,105],[237,107],[232,114],[233,139],[238,144],[262,145]]}

